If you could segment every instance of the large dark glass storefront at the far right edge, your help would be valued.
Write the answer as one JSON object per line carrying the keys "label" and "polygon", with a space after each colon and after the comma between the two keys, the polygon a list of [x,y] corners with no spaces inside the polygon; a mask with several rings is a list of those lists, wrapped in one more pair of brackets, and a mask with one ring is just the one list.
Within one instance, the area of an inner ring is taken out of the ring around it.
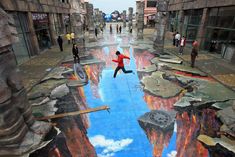
{"label": "large dark glass storefront at the far right edge", "polygon": [[206,23],[204,48],[223,56],[223,50],[231,46],[235,46],[235,7],[211,8]]}

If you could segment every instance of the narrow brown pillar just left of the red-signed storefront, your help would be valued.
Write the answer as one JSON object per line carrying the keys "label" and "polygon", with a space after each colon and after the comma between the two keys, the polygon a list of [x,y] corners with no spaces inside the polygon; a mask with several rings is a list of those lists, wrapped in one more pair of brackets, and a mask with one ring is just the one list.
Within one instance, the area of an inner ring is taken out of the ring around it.
{"label": "narrow brown pillar just left of the red-signed storefront", "polygon": [[29,31],[30,31],[30,34],[31,34],[31,39],[32,39],[32,47],[33,47],[33,54],[31,55],[38,55],[39,54],[39,44],[38,44],[38,39],[37,39],[37,36],[36,36],[36,33],[35,33],[35,29],[34,29],[34,26],[33,26],[33,18],[32,18],[32,13],[31,12],[28,12],[27,14],[27,18],[28,18],[28,22],[29,22]]}

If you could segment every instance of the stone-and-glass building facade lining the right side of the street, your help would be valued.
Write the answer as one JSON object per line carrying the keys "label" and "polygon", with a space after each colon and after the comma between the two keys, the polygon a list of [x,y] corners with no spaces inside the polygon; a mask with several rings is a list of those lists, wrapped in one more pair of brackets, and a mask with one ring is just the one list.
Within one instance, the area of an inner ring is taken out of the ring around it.
{"label": "stone-and-glass building facade lining the right side of the street", "polygon": [[235,45],[235,0],[170,0],[168,30],[178,31],[201,49],[224,54]]}

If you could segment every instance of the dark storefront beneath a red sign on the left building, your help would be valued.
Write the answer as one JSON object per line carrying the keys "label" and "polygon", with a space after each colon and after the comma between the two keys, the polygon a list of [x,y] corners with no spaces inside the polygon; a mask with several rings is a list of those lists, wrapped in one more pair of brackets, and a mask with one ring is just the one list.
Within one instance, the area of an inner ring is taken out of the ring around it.
{"label": "dark storefront beneath a red sign on the left building", "polygon": [[45,13],[32,13],[32,18],[40,50],[50,48],[51,37],[48,15]]}

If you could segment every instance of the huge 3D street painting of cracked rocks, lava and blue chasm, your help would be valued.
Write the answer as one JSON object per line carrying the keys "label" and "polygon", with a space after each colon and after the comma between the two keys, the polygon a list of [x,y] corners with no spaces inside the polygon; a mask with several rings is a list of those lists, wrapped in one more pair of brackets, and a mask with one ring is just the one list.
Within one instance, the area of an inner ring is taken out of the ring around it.
{"label": "huge 3D street painting of cracked rocks, lava and blue chasm", "polygon": [[[51,120],[61,133],[31,157],[234,156],[234,92],[151,44],[106,34],[87,45],[83,69],[67,61],[36,85],[29,98],[38,117],[102,105],[110,112]],[[117,50],[134,74],[113,78]]]}

